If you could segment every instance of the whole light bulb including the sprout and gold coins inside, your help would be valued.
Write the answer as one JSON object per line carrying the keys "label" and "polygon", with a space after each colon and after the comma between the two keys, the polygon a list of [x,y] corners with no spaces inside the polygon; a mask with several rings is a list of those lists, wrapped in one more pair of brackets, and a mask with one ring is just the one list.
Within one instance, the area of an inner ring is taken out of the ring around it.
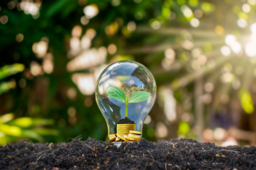
{"label": "whole light bulb including the sprout and gold coins inside", "polygon": [[[156,82],[142,64],[122,60],[109,65],[100,74],[95,96],[107,122],[109,140],[138,141],[143,122],[156,99]],[[127,123],[126,116],[134,123]]]}

